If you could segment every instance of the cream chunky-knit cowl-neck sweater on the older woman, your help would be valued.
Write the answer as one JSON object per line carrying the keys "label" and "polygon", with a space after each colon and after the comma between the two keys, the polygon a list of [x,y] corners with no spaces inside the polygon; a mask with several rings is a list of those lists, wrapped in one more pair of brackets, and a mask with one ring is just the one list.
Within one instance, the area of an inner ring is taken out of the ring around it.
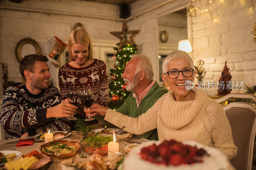
{"label": "cream chunky-knit cowl-neck sweater on the older woman", "polygon": [[229,160],[234,158],[237,147],[223,108],[202,90],[192,91],[194,100],[183,102],[176,101],[170,90],[138,118],[108,109],[105,120],[136,135],[157,128],[160,141],[196,141],[219,149]]}

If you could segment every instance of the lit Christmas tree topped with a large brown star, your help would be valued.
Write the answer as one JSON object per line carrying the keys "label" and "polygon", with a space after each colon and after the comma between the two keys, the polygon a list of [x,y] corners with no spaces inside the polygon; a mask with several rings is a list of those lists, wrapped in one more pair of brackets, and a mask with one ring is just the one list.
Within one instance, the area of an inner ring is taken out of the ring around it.
{"label": "lit Christmas tree topped with a large brown star", "polygon": [[[122,74],[124,73],[124,67],[126,63],[131,60],[133,54],[137,53],[137,45],[135,44],[133,38],[140,32],[140,30],[129,31],[129,28],[123,21],[122,31],[110,32],[112,35],[120,39],[120,42],[114,47],[116,54],[112,58],[115,59],[114,68],[110,69],[111,82],[109,83],[109,97],[110,101],[108,107],[110,109],[116,110],[119,108],[129,95],[126,91],[126,84],[122,79]],[[127,34],[132,34],[129,39],[127,39]]]}

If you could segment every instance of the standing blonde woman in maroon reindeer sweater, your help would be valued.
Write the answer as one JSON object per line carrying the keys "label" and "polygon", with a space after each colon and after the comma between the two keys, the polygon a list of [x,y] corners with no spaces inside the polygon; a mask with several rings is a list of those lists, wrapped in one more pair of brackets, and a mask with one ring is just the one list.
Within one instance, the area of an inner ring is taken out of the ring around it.
{"label": "standing blonde woman in maroon reindeer sweater", "polygon": [[[68,96],[69,87],[78,89],[89,88],[93,92],[94,103],[108,107],[108,73],[106,64],[102,60],[93,59],[92,41],[89,34],[84,30],[74,30],[68,39],[69,62],[59,69],[59,87],[61,99],[64,101]],[[78,105],[78,113],[75,117],[85,118],[84,106]],[[95,117],[102,121],[102,116]],[[95,121],[88,122],[97,123]],[[74,124],[74,122],[73,122]],[[72,126],[73,127],[73,126]]]}

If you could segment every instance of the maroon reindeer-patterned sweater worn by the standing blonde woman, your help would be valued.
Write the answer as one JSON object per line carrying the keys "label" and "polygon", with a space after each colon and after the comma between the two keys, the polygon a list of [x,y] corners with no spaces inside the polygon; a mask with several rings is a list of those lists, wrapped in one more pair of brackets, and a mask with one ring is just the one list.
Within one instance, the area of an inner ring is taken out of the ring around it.
{"label": "maroon reindeer-patterned sweater worn by the standing blonde woman", "polygon": [[[68,97],[68,88],[72,86],[76,86],[78,89],[91,89],[94,96],[93,103],[108,107],[108,73],[106,64],[102,60],[94,59],[91,65],[82,68],[71,67],[68,63],[61,66],[59,87],[62,101]],[[79,113],[85,114],[84,106],[81,103],[78,108]],[[94,117],[101,123],[105,122],[101,115]]]}

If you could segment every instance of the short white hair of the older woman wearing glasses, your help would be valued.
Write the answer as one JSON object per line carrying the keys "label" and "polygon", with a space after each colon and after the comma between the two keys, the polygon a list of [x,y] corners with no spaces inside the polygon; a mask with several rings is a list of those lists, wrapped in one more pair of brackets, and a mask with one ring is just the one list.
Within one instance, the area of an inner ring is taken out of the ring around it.
{"label": "short white hair of the older woman wearing glasses", "polygon": [[175,60],[175,59],[180,59],[180,58],[185,58],[189,61],[190,67],[194,69],[194,64],[193,60],[191,57],[188,55],[188,53],[184,51],[173,51],[172,53],[168,54],[167,57],[164,59],[163,64],[162,64],[162,69],[163,69],[163,74],[166,73],[168,70],[168,64],[170,61]]}

